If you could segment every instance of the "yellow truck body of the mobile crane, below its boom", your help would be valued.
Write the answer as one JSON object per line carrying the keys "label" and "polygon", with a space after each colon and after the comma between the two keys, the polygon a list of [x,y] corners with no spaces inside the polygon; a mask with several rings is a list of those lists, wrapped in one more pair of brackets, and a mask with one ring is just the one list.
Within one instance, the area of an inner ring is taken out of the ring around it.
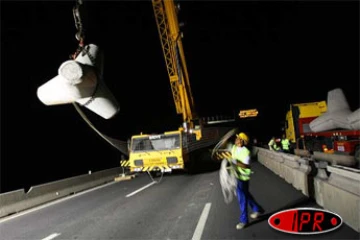
{"label": "yellow truck body of the mobile crane, below its boom", "polygon": [[129,141],[130,172],[172,172],[194,170],[190,153],[215,145],[229,128],[204,127],[194,131],[179,128],[161,134],[134,135]]}

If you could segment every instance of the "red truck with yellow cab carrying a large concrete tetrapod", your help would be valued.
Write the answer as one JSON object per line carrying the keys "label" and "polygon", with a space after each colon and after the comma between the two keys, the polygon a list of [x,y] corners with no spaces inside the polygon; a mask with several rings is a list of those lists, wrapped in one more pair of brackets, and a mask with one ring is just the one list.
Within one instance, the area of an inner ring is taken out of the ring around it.
{"label": "red truck with yellow cab carrying a large concrete tetrapod", "polygon": [[327,102],[291,104],[286,113],[286,137],[296,149],[350,155],[359,163],[360,111],[349,110],[341,89],[330,91]]}

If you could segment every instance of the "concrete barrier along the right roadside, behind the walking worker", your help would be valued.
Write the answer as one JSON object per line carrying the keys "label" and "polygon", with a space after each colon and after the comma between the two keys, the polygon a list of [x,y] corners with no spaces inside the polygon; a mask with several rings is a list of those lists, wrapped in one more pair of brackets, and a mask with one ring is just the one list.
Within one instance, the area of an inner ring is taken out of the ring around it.
{"label": "concrete barrier along the right roadside, behind the walking worker", "polygon": [[265,148],[256,148],[256,153],[261,164],[304,195],[313,197],[324,209],[339,214],[349,227],[360,232],[360,170],[330,166],[334,162],[316,161],[306,154],[291,155]]}

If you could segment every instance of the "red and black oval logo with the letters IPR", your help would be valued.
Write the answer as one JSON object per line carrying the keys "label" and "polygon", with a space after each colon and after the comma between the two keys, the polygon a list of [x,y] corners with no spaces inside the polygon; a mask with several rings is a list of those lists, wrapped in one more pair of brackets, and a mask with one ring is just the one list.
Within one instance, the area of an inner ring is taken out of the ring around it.
{"label": "red and black oval logo with the letters IPR", "polygon": [[334,231],[343,223],[336,213],[316,208],[294,208],[273,214],[269,225],[290,234],[320,234]]}

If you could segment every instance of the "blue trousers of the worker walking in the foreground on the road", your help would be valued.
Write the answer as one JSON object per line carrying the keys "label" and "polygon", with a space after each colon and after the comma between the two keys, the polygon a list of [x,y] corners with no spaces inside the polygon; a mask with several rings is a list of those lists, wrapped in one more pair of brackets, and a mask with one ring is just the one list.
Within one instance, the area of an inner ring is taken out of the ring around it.
{"label": "blue trousers of the worker walking in the foreground on the road", "polygon": [[236,195],[240,206],[240,222],[248,223],[247,205],[249,204],[253,212],[262,212],[262,207],[255,201],[249,192],[249,181],[237,180]]}

